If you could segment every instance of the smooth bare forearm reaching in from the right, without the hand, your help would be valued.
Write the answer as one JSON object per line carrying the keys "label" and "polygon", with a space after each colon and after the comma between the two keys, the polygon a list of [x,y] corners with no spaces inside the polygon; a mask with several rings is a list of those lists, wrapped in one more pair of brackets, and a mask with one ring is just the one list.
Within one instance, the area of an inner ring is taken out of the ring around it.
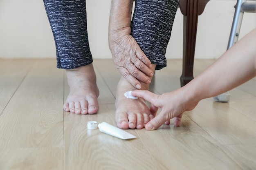
{"label": "smooth bare forearm reaching in from the right, without the hand", "polygon": [[184,87],[201,100],[229,91],[256,76],[256,29]]}

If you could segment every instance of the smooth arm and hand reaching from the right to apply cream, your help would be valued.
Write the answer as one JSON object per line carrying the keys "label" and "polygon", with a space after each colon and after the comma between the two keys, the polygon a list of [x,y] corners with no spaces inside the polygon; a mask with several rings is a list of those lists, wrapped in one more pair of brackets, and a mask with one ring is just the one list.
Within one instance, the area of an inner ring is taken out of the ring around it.
{"label": "smooth arm and hand reaching from the right to apply cream", "polygon": [[154,130],[164,122],[169,124],[173,117],[192,110],[200,100],[229,91],[255,76],[256,29],[238,41],[186,86],[162,95],[155,95],[149,91],[133,91],[132,95],[148,100],[153,113],[156,113],[158,108],[161,109],[159,115],[146,124],[147,130]]}

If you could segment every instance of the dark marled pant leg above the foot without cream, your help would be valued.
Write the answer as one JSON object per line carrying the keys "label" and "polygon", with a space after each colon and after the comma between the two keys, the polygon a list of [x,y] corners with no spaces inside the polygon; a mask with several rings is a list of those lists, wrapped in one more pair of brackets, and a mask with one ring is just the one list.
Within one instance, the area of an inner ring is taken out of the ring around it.
{"label": "dark marled pant leg above the foot without cream", "polygon": [[57,68],[73,69],[92,63],[85,0],[44,0],[54,35]]}

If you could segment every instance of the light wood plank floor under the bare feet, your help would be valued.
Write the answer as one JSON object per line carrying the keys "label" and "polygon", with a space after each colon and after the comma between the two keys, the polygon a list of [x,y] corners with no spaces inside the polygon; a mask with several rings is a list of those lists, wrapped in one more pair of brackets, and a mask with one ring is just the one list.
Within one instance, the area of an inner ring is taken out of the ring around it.
{"label": "light wood plank floor under the bare feet", "polygon": [[[198,75],[213,60],[195,60]],[[88,130],[87,121],[116,126],[120,74],[112,60],[94,60],[99,112],[63,111],[65,72],[56,60],[0,59],[0,170],[256,170],[256,79],[231,91],[229,103],[202,100],[182,125],[127,132],[122,140]],[[150,89],[180,87],[182,60],[168,60]],[[211,89],[209,89],[211,90]]]}

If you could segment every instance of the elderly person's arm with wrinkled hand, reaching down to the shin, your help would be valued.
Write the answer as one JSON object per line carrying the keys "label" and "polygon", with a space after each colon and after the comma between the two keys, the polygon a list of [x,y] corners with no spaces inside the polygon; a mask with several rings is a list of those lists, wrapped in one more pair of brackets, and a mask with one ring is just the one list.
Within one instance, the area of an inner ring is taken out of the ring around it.
{"label": "elderly person's arm with wrinkled hand, reaching down to the shin", "polygon": [[133,0],[112,0],[108,42],[115,66],[132,86],[141,88],[141,82],[150,83],[151,62],[140,49],[131,33]]}

